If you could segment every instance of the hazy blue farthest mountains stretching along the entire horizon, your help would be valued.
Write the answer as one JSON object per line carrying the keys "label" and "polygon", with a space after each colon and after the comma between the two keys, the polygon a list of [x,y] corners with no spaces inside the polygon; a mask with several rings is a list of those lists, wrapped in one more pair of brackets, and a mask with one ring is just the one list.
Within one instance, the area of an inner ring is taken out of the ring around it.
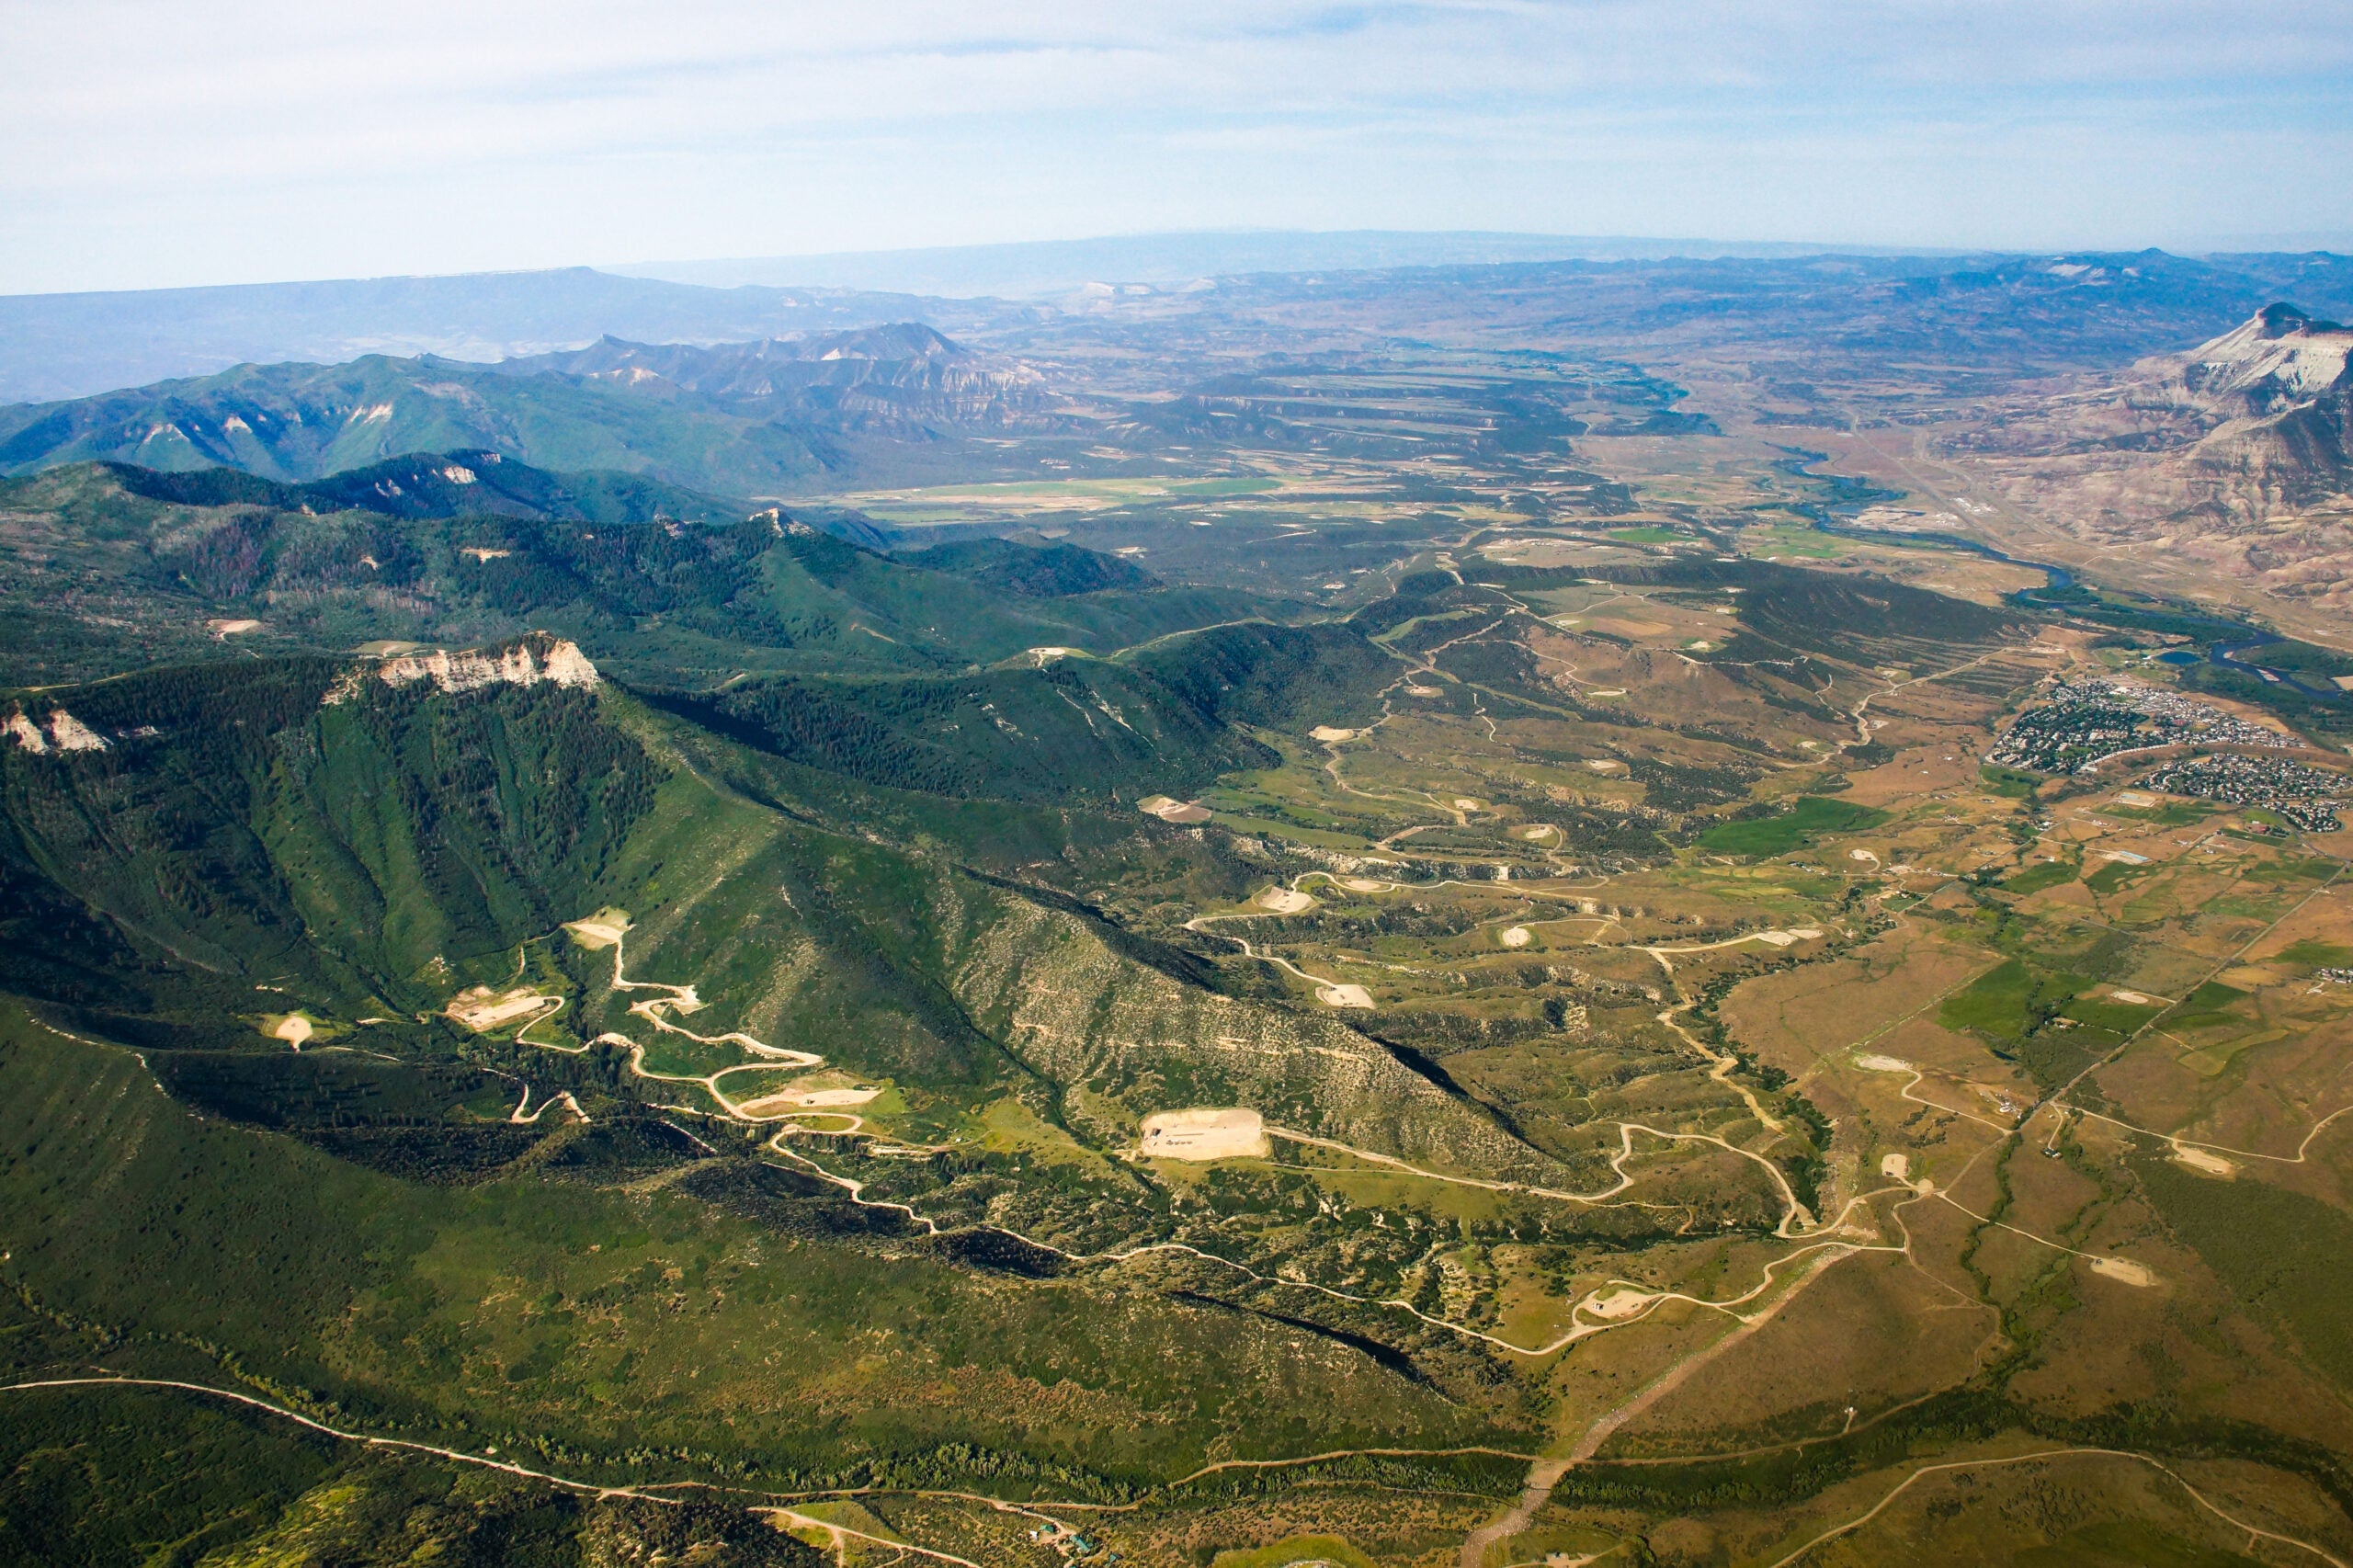
{"label": "hazy blue farthest mountains stretching along the entire horizon", "polygon": [[[369,353],[487,363],[584,348],[607,334],[722,344],[913,320],[981,341],[1129,297],[1217,297],[1228,280],[1299,278],[1355,292],[1419,285],[1449,297],[1501,290],[1497,299],[1534,285],[1560,297],[1562,320],[1593,327],[1626,301],[1654,318],[1682,311],[1694,320],[1725,306],[1734,313],[1762,306],[1774,315],[1788,299],[1819,301],[1833,313],[1854,304],[1835,287],[1819,290],[1826,280],[1892,290],[1887,304],[1899,313],[1920,299],[1941,299],[1948,313],[1955,297],[1979,297],[1988,280],[2038,268],[2094,275],[2087,287],[2111,297],[2104,315],[2139,323],[2125,360],[2212,334],[2266,299],[2353,311],[2353,268],[2327,252],[2188,259],[2155,250],[2024,257],[1515,233],[1134,235],[616,271],[0,297],[0,400],[80,398],[247,363],[344,363]],[[1859,315],[1835,318],[1871,330],[1880,315],[1880,301],[1866,299]]]}

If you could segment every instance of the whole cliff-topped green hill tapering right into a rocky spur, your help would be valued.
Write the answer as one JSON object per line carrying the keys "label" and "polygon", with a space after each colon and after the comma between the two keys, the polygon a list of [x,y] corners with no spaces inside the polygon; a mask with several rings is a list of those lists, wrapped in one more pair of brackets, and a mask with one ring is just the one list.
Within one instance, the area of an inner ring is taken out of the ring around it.
{"label": "whole cliff-topped green hill tapering right into a rocky spur", "polygon": [[[525,647],[541,662],[558,650],[548,638]],[[1012,704],[1021,683],[984,690]],[[1120,695],[1146,716],[1115,678],[1089,687],[1040,671],[1021,702],[1075,709],[1080,692]],[[0,982],[115,1038],[226,1045],[301,1010],[341,1043],[431,1043],[449,1034],[433,1012],[452,994],[520,975],[572,998],[544,1043],[576,1048],[642,1029],[631,994],[609,989],[609,963],[553,939],[565,921],[616,906],[633,911],[633,963],[696,977],[718,1008],[699,1015],[699,1034],[746,1029],[889,1076],[939,1097],[941,1116],[1002,1085],[1059,1095],[1052,1085],[1087,1083],[1082,1104],[1054,1114],[1092,1125],[1089,1140],[1129,1137],[1132,1118],[1172,1095],[1226,1095],[1386,1147],[1520,1158],[1372,1041],[1226,998],[1198,961],[965,871],[953,815],[925,831],[929,848],[894,848],[852,822],[824,826],[821,800],[715,786],[689,758],[727,742],[678,730],[612,685],[442,692],[289,659],[19,704],[66,711],[111,744],[0,751],[0,864],[19,937]],[[1153,716],[1184,720],[1169,704]],[[1193,770],[1252,753],[1191,723],[1172,739],[1193,749]],[[1068,739],[1054,746],[1064,772],[1033,760],[1014,793],[1085,798],[1101,758],[1068,753]],[[948,765],[953,753],[934,756]],[[1115,756],[1146,777],[1134,753]],[[988,775],[1002,758],[981,746],[960,765]],[[1129,833],[1165,831],[1122,819]],[[1238,1029],[1329,1050],[1235,1059],[1205,1045]],[[1337,1062],[1388,1092],[1320,1095]]]}

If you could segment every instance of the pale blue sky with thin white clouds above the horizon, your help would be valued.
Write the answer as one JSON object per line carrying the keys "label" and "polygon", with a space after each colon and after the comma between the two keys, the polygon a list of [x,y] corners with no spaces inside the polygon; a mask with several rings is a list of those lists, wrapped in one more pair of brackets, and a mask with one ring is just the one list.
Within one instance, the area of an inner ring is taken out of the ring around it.
{"label": "pale blue sky with thin white clouds above the horizon", "polygon": [[1181,228],[2353,247],[2353,0],[0,5],[0,292]]}

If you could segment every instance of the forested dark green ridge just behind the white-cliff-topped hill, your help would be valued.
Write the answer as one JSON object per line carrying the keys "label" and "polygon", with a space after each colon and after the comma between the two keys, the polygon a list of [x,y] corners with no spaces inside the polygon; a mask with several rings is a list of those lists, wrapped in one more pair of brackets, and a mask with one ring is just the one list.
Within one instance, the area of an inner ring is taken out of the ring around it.
{"label": "forested dark green ridge just behind the white-cliff-topped hill", "polygon": [[[1155,586],[1089,551],[1002,544],[1000,574],[1127,584],[1019,596],[776,509],[744,516],[649,480],[478,452],[299,487],[80,464],[0,480],[0,506],[19,520],[0,539],[0,680],[21,683],[548,629],[616,671],[694,687],[760,669],[955,671],[1028,647],[1113,652],[1266,610],[1235,591]],[[1033,556],[1038,567],[1021,565]],[[68,600],[59,572],[75,584]]]}

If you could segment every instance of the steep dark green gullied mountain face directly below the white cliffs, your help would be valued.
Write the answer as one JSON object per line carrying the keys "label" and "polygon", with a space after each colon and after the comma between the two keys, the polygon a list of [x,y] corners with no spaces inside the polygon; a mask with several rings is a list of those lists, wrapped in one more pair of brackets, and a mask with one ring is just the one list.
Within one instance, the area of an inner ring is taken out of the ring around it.
{"label": "steep dark green gullied mountain face directly below the white cliffs", "polygon": [[[165,984],[193,996],[174,1012],[195,1010],[186,1024],[205,1036],[219,1034],[200,1017],[216,977],[412,1012],[438,1001],[452,963],[546,930],[560,892],[598,883],[661,789],[591,695],[442,702],[431,685],[374,685],[325,704],[336,673],[322,659],[214,664],[47,695],[115,742],[0,760],[0,857],[24,923],[7,982],[52,991],[40,911],[80,904],[176,961]],[[146,968],[118,942],[85,942],[108,968]]]}

